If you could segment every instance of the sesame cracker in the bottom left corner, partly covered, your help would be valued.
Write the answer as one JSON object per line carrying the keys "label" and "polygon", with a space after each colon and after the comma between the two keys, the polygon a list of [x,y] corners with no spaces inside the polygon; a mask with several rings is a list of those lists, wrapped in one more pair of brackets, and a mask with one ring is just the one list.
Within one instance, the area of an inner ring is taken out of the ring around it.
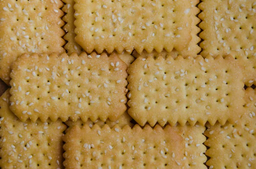
{"label": "sesame cracker in the bottom left corner, partly covered", "polygon": [[63,168],[61,120],[21,122],[9,109],[9,89],[0,97],[0,168]]}

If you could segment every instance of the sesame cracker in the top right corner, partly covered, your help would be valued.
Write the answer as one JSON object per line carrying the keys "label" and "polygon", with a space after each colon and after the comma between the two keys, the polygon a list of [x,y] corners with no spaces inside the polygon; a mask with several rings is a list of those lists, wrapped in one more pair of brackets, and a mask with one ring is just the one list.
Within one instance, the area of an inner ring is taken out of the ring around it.
{"label": "sesame cracker in the top right corner, partly covered", "polygon": [[256,84],[255,0],[203,0],[201,55],[233,55],[242,64],[244,83]]}

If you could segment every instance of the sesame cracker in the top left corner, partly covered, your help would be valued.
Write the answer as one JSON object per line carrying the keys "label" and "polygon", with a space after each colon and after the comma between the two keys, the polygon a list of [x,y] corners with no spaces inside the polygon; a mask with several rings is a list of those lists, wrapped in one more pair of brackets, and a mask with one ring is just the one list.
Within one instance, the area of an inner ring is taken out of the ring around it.
{"label": "sesame cracker in the top left corner, partly covered", "polygon": [[11,64],[23,53],[61,53],[65,40],[61,0],[1,0],[0,78],[9,84]]}

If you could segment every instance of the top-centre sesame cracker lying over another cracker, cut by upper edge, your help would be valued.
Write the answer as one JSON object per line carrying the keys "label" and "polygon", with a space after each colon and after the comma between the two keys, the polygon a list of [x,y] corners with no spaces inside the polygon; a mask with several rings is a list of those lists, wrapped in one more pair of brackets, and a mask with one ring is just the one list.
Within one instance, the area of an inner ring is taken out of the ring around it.
{"label": "top-centre sesame cracker lying over another cracker, cut by upper edge", "polygon": [[75,40],[88,53],[181,51],[192,39],[190,0],[75,2]]}

